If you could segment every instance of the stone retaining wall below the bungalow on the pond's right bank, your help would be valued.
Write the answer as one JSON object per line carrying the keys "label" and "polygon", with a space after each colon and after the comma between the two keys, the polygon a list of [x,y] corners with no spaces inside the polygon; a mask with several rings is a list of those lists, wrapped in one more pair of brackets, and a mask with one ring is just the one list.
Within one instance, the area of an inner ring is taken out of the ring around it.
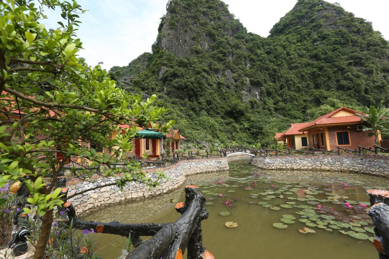
{"label": "stone retaining wall below the bungalow on the pond's right bank", "polygon": [[375,156],[256,156],[251,165],[270,170],[341,171],[389,177],[389,158]]}

